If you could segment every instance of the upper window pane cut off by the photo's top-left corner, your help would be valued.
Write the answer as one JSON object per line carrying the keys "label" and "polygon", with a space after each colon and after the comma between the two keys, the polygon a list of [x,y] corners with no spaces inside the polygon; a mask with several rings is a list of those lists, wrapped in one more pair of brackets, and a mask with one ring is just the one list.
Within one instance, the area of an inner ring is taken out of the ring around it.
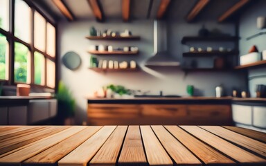
{"label": "upper window pane cut off by the photo's top-left corner", "polygon": [[0,0],[0,28],[9,30],[9,0]]}

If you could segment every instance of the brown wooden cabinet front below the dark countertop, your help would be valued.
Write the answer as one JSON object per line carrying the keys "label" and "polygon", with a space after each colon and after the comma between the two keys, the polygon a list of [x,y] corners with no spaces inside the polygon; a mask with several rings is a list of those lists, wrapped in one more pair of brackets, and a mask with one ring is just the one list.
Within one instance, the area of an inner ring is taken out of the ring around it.
{"label": "brown wooden cabinet front below the dark countertop", "polygon": [[91,125],[230,125],[229,104],[88,104]]}

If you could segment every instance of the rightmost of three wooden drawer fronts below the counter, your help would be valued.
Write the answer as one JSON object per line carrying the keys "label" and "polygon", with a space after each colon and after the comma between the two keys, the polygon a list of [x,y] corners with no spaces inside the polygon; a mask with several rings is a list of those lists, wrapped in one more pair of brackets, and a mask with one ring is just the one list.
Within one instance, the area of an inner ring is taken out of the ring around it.
{"label": "rightmost of three wooden drawer fronts below the counter", "polygon": [[230,105],[188,105],[186,107],[188,116],[199,118],[230,118]]}

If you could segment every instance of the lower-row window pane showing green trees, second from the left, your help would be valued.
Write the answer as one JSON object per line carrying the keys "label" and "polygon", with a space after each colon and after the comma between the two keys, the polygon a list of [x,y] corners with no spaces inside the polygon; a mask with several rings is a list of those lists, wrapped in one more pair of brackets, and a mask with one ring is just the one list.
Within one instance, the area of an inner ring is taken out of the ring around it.
{"label": "lower-row window pane showing green trees, second from the left", "polygon": [[30,83],[30,51],[23,44],[15,42],[15,82]]}

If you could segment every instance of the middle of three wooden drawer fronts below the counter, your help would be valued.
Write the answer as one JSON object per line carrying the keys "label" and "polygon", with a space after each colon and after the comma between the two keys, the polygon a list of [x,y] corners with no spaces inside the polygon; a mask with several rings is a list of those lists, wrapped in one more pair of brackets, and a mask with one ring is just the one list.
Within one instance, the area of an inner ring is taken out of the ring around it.
{"label": "middle of three wooden drawer fronts below the counter", "polygon": [[186,116],[186,105],[183,104],[144,104],[141,106],[144,116],[180,117]]}

